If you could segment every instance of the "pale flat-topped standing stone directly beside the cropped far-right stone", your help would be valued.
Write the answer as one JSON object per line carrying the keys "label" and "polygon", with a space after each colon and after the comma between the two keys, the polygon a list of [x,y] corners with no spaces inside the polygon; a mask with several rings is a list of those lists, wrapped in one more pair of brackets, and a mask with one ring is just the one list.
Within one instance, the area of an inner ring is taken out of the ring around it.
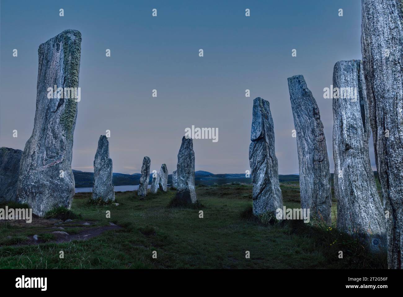
{"label": "pale flat-topped standing stone directly beside the cropped far-right stone", "polygon": [[361,61],[337,62],[333,88],[337,230],[359,238],[373,252],[385,252],[385,220],[371,168],[368,148],[371,128]]}

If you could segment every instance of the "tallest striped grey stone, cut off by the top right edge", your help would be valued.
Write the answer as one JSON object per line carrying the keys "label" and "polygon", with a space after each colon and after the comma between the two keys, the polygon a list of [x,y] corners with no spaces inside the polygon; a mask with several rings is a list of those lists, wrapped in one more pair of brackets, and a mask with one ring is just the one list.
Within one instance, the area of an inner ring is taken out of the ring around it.
{"label": "tallest striped grey stone, cut off by the top right edge", "polygon": [[388,267],[403,268],[403,3],[361,0],[361,52],[378,177]]}

